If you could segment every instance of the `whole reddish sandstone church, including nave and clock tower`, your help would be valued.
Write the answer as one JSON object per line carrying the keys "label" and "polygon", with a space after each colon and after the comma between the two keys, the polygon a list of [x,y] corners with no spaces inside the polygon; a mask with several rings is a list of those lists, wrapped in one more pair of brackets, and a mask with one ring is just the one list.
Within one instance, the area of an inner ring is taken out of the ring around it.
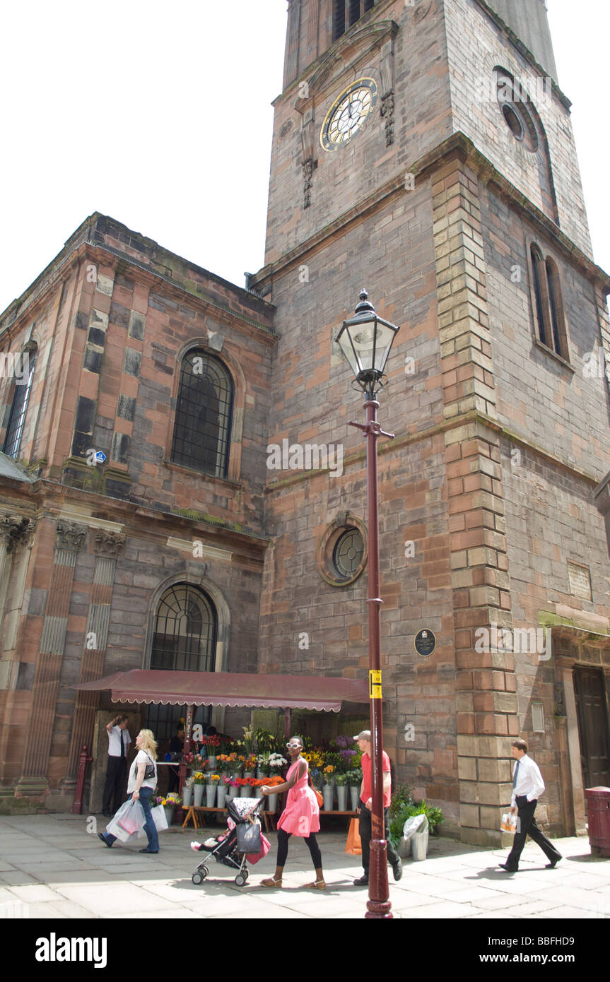
{"label": "whole reddish sandstone church, including nave and clock tower", "polygon": [[365,289],[400,328],[378,395],[395,780],[497,842],[523,736],[536,818],[583,832],[610,785],[610,279],[570,105],[544,0],[289,0],[246,288],[94,213],[0,316],[0,812],[69,810],[83,744],[99,786],[116,704],[80,682],[367,678],[364,414],[336,343]]}

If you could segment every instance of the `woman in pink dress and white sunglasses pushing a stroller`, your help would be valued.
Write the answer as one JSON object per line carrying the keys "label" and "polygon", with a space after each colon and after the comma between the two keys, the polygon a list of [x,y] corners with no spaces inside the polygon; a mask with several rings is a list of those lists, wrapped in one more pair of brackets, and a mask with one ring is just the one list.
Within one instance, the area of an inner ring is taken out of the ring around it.
{"label": "woman in pink dress and white sunglasses pushing a stroller", "polygon": [[315,840],[315,833],[320,831],[320,809],[317,798],[308,786],[307,762],[301,756],[303,740],[301,736],[292,736],[286,744],[291,756],[292,765],[286,775],[283,785],[274,788],[263,788],[267,795],[288,791],[286,807],[277,823],[277,860],[275,875],[267,880],[261,880],[261,887],[281,887],[282,871],[288,856],[288,840],[291,836],[301,836],[309,848],[309,854],[315,869],[315,882],[305,884],[317,890],[324,890],[324,874],[322,873],[322,857],[320,848]]}

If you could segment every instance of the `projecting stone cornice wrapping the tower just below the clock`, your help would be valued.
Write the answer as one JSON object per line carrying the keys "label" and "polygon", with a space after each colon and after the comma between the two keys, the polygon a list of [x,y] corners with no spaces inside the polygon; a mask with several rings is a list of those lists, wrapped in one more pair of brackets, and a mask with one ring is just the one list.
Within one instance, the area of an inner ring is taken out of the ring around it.
{"label": "projecting stone cornice wrapping the tower just below the clock", "polygon": [[252,278],[252,282],[257,286],[266,286],[272,283],[280,272],[285,273],[291,267],[300,265],[307,253],[314,252],[319,246],[327,245],[334,236],[344,235],[350,225],[359,223],[363,218],[385,207],[392,196],[411,193],[405,187],[405,175],[407,173],[415,175],[416,179],[427,177],[439,166],[447,163],[452,154],[468,163],[482,183],[493,185],[506,200],[519,204],[532,225],[539,229],[566,258],[574,262],[588,279],[594,281],[603,293],[610,293],[610,276],[592,259],[589,259],[579,246],[575,246],[544,212],[529,201],[522,191],[518,191],[510,181],[500,174],[484,154],[476,149],[472,140],[463,133],[449,136],[435,146],[433,150],[419,157],[409,167],[405,167],[400,174],[395,174],[376,191],[372,191],[358,204],[349,208],[348,211],[344,211],[333,222],[318,232],[314,232],[300,246],[295,246],[280,259],[263,266]]}

